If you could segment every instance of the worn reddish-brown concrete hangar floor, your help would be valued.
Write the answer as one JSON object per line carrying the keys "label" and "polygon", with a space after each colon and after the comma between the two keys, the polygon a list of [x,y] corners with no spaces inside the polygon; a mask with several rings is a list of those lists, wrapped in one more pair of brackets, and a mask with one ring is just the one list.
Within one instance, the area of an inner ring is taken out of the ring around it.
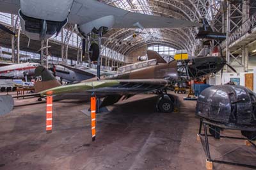
{"label": "worn reddish-brown concrete hangar floor", "polygon": [[[196,141],[199,120],[195,101],[183,101],[180,112],[156,112],[156,97],[137,95],[97,114],[92,142],[88,103],[54,102],[53,131],[45,133],[45,103],[15,100],[19,105],[0,116],[0,169],[205,169],[205,153]],[[227,134],[241,136],[239,132]],[[210,140],[212,158],[256,164],[256,151],[244,141]],[[234,150],[236,148],[236,150]],[[246,169],[214,164],[214,169]],[[249,168],[247,168],[249,169]]]}

